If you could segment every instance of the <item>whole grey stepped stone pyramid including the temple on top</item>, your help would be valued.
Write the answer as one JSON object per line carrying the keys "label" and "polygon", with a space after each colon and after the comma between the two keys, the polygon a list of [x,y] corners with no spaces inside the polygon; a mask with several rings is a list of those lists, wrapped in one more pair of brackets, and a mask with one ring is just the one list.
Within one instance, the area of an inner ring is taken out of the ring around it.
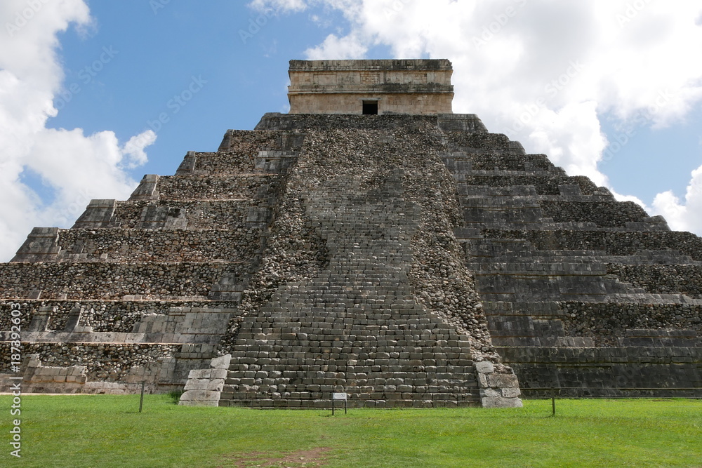
{"label": "whole grey stepped stone pyramid including the temple on top", "polygon": [[453,114],[448,60],[289,73],[289,114],[0,264],[4,384],[264,408],[702,396],[702,239]]}

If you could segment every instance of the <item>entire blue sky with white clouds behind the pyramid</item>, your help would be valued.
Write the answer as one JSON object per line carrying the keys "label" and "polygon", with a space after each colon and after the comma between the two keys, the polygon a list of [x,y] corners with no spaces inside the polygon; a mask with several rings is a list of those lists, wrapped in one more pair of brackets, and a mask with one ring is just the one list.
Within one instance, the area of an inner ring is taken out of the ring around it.
{"label": "entire blue sky with white clouds behind the pyramid", "polygon": [[5,0],[0,260],[286,112],[317,58],[449,58],[454,112],[702,234],[702,5],[671,4]]}

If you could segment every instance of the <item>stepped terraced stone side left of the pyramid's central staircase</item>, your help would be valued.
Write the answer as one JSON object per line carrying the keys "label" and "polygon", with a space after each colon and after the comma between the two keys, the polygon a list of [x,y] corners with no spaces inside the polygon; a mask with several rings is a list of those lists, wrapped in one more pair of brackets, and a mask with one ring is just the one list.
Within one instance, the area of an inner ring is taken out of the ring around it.
{"label": "stepped terraced stone side left of the pyramid's central staircase", "polygon": [[235,131],[225,140],[222,152],[189,152],[178,175],[146,175],[129,201],[92,201],[73,229],[34,229],[0,265],[0,356],[19,310],[32,354],[25,389],[182,388],[237,334],[300,140]]}

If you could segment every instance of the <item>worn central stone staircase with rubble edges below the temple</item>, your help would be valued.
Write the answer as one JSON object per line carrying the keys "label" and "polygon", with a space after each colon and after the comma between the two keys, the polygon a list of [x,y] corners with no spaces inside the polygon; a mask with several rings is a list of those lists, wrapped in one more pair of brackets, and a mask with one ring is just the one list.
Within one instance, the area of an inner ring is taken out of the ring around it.
{"label": "worn central stone staircase with rubble edges below the temple", "polygon": [[[223,342],[220,406],[323,407],[331,392],[351,406],[519,406],[453,236],[435,121],[329,117],[257,127],[308,130],[239,334]],[[494,361],[483,387],[474,360]]]}

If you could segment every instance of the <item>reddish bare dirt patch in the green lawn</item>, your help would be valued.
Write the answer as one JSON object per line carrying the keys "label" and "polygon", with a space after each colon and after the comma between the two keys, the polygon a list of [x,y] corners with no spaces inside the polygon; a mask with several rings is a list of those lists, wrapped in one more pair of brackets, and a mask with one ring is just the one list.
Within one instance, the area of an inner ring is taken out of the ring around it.
{"label": "reddish bare dirt patch in the green lawn", "polygon": [[226,455],[219,468],[314,468],[324,467],[331,448],[317,447],[310,450],[274,456],[271,453],[253,452]]}

